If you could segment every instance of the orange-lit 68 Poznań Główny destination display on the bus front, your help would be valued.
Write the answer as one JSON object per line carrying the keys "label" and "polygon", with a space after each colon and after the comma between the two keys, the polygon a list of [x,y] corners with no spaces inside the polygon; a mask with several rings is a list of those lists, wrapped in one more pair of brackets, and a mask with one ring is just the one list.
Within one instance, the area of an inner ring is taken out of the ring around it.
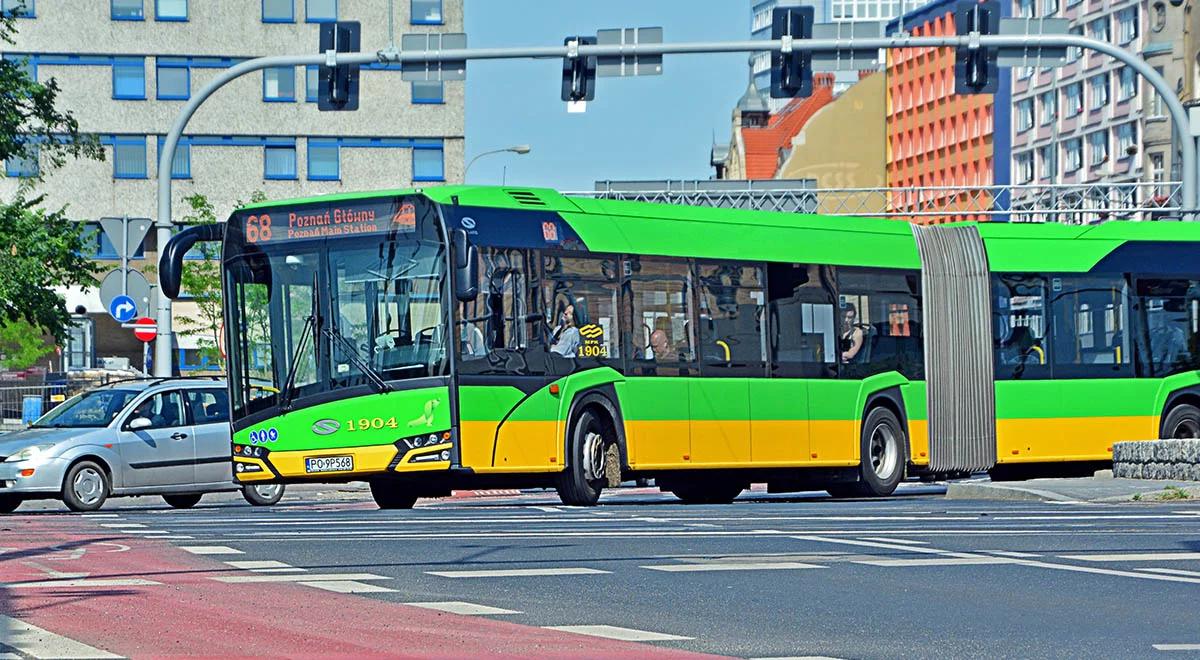
{"label": "orange-lit 68 Pozna\u0144 G\u0142\u00f3wny destination display on the bus front", "polygon": [[412,234],[419,222],[432,220],[433,208],[427,200],[407,197],[246,210],[234,222],[235,232],[242,234],[246,244],[264,245],[360,234]]}

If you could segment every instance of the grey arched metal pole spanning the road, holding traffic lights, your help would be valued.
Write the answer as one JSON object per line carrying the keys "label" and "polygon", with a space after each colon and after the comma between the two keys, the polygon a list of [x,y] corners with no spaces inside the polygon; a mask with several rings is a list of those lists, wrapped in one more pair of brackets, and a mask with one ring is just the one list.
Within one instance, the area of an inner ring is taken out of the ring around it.
{"label": "grey arched metal pole spanning the road, holding traffic lights", "polygon": [[[899,35],[892,37],[872,38],[840,38],[840,40],[794,40],[790,37],[768,41],[728,41],[728,42],[689,42],[689,43],[637,43],[637,44],[605,44],[586,46],[581,43],[571,46],[550,46],[538,48],[460,48],[444,50],[420,50],[401,52],[389,47],[378,53],[324,53],[317,55],[278,55],[258,58],[234,65],[211,83],[202,88],[193,96],[167,133],[163,149],[158,156],[158,218],[155,222],[160,251],[170,240],[173,221],[170,217],[172,202],[172,163],[175,161],[175,149],[179,139],[187,127],[187,122],[196,114],[196,110],[218,89],[226,84],[256,71],[262,71],[272,66],[335,66],[335,65],[362,65],[370,62],[404,64],[404,62],[446,62],[466,60],[508,60],[508,59],[562,59],[562,58],[588,58],[588,56],[634,56],[634,55],[684,55],[698,53],[755,53],[755,52],[824,52],[838,53],[853,49],[892,49],[892,48],[1024,48],[1038,49],[1048,48],[1085,48],[1109,55],[1141,74],[1163,98],[1171,114],[1171,125],[1178,136],[1182,150],[1182,199],[1181,206],[1186,220],[1194,220],[1200,204],[1198,204],[1196,192],[1200,188],[1200,179],[1196,170],[1198,144],[1188,127],[1188,115],[1183,104],[1175,96],[1172,88],[1166,80],[1146,64],[1145,60],[1133,53],[1106,43],[1080,35],[979,35],[971,34],[964,36],[920,36],[913,37]],[[167,176],[162,174],[167,173]],[[157,337],[155,341],[154,374],[169,377],[172,374],[172,341],[170,341],[170,299],[166,295],[158,296],[157,310]]]}

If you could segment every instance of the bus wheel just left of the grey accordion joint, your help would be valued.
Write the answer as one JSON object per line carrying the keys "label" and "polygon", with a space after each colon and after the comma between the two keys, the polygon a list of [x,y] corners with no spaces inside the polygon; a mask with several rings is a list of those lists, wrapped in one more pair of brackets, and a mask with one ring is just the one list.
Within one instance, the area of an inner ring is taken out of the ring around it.
{"label": "bus wheel just left of the grey accordion joint", "polygon": [[908,436],[895,413],[876,406],[863,420],[859,438],[862,458],[858,481],[832,484],[826,490],[833,497],[887,497],[895,492],[904,479],[908,456]]}

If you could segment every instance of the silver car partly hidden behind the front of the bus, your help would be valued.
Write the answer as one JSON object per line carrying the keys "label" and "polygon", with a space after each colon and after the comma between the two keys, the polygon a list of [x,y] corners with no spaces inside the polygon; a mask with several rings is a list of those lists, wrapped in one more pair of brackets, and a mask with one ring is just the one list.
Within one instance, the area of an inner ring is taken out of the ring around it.
{"label": "silver car partly hidden behind the front of the bus", "polygon": [[72,397],[29,428],[0,436],[0,512],[26,499],[95,511],[109,497],[161,494],[179,509],[204,493],[241,491],[254,505],[283,497],[277,484],[233,481],[224,383],[126,380]]}

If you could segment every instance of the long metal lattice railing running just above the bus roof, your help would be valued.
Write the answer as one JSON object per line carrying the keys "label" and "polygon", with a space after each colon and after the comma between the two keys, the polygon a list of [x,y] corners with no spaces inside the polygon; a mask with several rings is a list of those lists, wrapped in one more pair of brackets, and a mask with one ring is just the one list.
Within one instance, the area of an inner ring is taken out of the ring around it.
{"label": "long metal lattice railing running just above the bus roof", "polygon": [[1180,220],[1178,181],[1014,186],[925,186],[911,188],[818,188],[811,181],[600,181],[594,191],[569,196],[877,216],[934,223],[961,220],[1090,224],[1105,220]]}

